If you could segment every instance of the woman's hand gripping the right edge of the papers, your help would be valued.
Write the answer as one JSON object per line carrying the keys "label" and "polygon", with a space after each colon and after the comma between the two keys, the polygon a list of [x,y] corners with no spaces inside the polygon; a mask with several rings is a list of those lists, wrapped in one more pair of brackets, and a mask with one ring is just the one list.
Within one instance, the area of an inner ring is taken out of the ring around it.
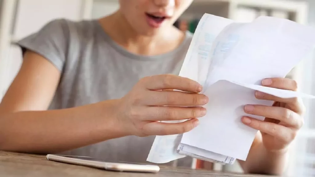
{"label": "woman's hand gripping the right edge of the papers", "polygon": [[[287,78],[271,78],[262,81],[262,85],[286,90],[297,90],[297,83]],[[246,113],[266,117],[260,121],[243,117],[242,121],[249,127],[259,130],[262,143],[267,151],[286,152],[289,144],[295,139],[297,131],[303,125],[305,107],[299,98],[282,99],[269,94],[255,92],[257,99],[273,100],[272,106],[246,105]]]}

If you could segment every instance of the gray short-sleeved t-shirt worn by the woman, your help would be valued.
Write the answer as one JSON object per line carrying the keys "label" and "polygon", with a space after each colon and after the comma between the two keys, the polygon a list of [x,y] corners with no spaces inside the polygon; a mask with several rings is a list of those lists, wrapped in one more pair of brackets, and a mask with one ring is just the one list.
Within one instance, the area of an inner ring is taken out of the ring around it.
{"label": "gray short-sleeved t-shirt worn by the woman", "polygon": [[[18,45],[23,52],[29,49],[41,54],[61,71],[49,109],[63,109],[122,98],[142,77],[178,75],[191,40],[192,34],[187,32],[186,39],[174,51],[143,56],[115,43],[97,20],[57,19],[20,40]],[[145,163],[154,138],[127,136],[63,154]],[[192,160],[186,157],[177,163],[189,167]]]}

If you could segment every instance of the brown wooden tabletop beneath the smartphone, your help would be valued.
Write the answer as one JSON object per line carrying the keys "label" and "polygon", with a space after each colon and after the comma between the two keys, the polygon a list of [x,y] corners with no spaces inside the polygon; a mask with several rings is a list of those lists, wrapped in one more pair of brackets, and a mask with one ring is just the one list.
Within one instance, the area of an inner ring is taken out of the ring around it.
{"label": "brown wooden tabletop beneath the smartphone", "polygon": [[[0,151],[0,176],[2,177],[264,177],[217,173],[203,170],[161,167],[157,174],[112,172],[95,168],[58,163],[46,160],[45,156]],[[270,176],[268,176],[270,177]]]}

